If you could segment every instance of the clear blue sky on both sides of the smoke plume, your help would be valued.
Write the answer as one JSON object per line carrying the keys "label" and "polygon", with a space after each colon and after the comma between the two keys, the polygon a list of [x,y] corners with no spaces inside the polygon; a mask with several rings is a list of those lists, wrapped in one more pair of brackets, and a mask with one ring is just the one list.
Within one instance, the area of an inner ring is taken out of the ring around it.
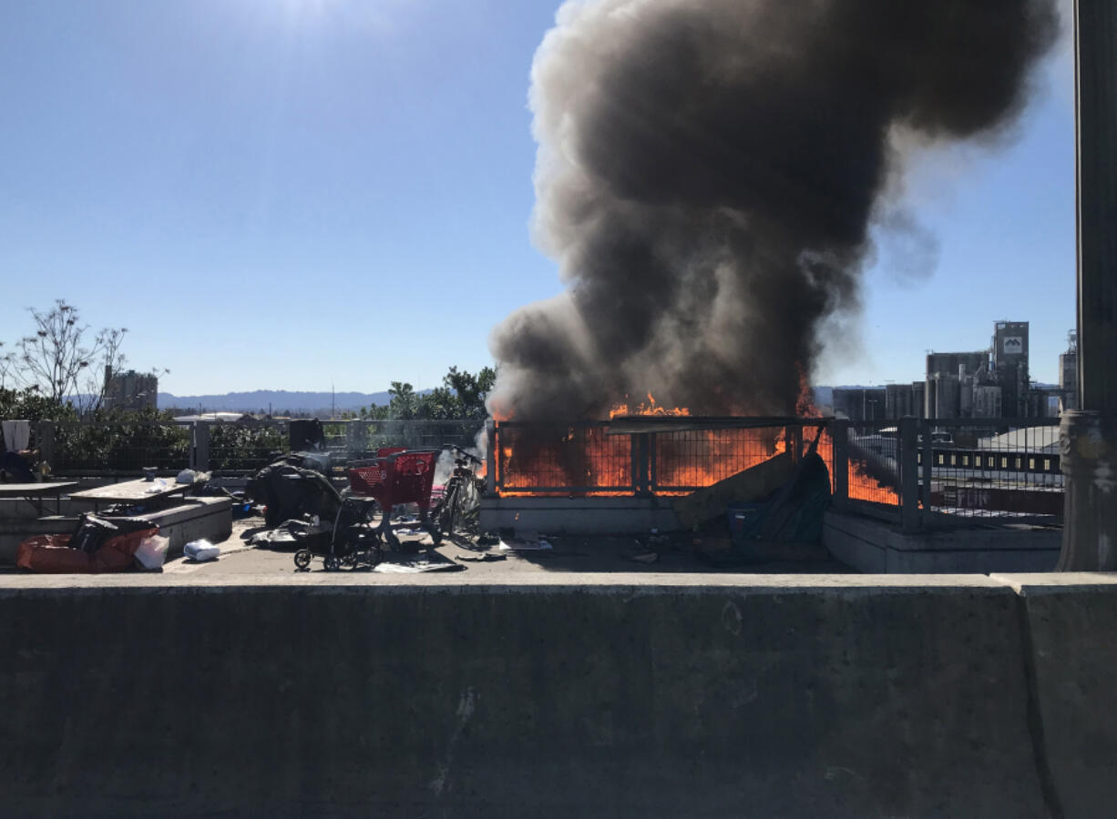
{"label": "clear blue sky on both sides of the smoke plume", "polygon": [[[433,386],[560,291],[531,243],[532,56],[556,0],[0,4],[0,340],[56,297],[125,326],[180,395]],[[1066,39],[1011,144],[923,158],[935,272],[867,272],[822,383],[922,377],[1030,320],[1057,379],[1075,321]]]}

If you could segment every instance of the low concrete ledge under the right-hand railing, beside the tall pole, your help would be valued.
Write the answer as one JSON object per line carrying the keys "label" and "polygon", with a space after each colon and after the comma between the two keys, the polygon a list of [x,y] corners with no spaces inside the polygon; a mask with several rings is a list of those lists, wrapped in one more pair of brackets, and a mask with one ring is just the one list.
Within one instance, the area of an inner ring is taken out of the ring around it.
{"label": "low concrete ledge under the right-hand railing, beside the tall pole", "polygon": [[889,523],[831,510],[822,545],[847,566],[873,574],[1051,571],[1059,560],[1062,531],[975,526],[905,534]]}

